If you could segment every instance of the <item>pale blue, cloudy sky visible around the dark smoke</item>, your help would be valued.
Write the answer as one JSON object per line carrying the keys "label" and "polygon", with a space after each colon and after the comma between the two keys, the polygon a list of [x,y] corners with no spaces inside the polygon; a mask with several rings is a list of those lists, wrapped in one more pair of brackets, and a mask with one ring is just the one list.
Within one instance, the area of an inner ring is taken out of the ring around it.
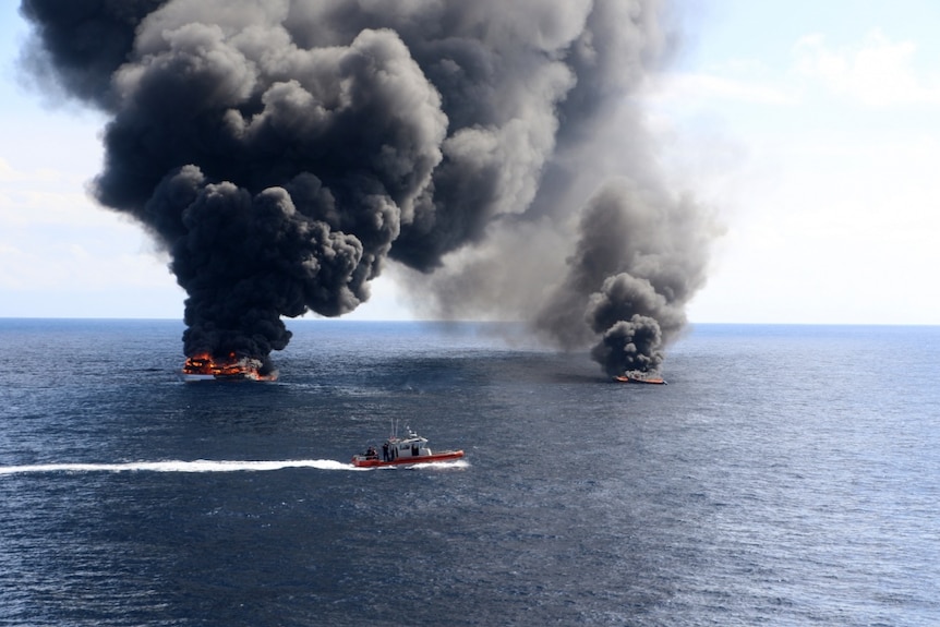
{"label": "pale blue, cloudy sky visible around the dark smoke", "polygon": [[[17,5],[0,3],[0,317],[182,317],[166,256],[86,193],[105,119],[17,72]],[[940,324],[940,4],[689,0],[678,19],[636,97],[671,184],[725,227],[689,319]],[[417,315],[383,276],[346,317]]]}

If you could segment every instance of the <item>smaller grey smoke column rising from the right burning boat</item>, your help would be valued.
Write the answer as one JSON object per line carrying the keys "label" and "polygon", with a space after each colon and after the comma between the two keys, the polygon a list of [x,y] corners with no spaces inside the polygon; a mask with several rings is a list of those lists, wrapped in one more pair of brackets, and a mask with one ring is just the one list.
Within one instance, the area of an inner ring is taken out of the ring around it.
{"label": "smaller grey smoke column rising from the right burning boat", "polygon": [[581,214],[568,274],[537,327],[569,350],[600,336],[591,357],[608,375],[659,373],[686,324],[685,305],[704,285],[715,232],[687,198],[607,182]]}

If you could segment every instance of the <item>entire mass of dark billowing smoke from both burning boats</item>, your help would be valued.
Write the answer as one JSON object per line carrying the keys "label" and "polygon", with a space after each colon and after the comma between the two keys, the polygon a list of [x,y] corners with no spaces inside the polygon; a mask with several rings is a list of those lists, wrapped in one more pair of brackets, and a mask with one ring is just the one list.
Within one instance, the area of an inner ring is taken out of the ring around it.
{"label": "entire mass of dark billowing smoke from both burning boats", "polygon": [[630,104],[659,4],[23,0],[22,60],[110,116],[94,191],[170,253],[188,355],[267,360],[394,261],[437,313],[650,371],[710,237]]}

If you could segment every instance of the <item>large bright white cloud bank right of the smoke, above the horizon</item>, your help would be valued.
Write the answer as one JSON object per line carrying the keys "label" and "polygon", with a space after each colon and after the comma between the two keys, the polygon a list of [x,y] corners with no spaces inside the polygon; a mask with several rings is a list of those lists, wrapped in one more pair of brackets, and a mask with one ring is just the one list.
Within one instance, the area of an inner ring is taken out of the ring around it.
{"label": "large bright white cloud bank right of the smoke, above the horizon", "polygon": [[773,52],[692,67],[648,100],[676,185],[728,224],[690,319],[940,323],[940,73],[878,31]]}

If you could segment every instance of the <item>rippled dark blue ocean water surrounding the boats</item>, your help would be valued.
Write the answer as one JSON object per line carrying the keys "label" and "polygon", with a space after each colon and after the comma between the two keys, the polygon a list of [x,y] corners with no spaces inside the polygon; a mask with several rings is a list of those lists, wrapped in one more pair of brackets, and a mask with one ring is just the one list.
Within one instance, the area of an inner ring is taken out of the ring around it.
{"label": "rippled dark blue ocean water surrounding the boats", "polygon": [[[289,325],[182,384],[178,323],[0,321],[0,625],[940,623],[940,327],[701,325],[636,386]],[[465,461],[353,470],[393,421]]]}

